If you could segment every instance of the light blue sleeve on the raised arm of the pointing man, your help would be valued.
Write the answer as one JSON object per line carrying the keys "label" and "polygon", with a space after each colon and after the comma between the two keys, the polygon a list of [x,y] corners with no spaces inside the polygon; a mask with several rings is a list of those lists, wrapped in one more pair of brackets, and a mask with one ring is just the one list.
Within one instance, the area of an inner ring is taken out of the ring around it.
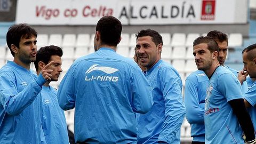
{"label": "light blue sleeve on the raised arm of the pointing man", "polygon": [[[42,90],[42,85],[32,81],[18,93],[15,76],[11,73],[2,72],[0,76],[0,102],[6,113],[14,116],[19,115],[35,100],[37,94]],[[39,80],[37,79],[37,81]]]}

